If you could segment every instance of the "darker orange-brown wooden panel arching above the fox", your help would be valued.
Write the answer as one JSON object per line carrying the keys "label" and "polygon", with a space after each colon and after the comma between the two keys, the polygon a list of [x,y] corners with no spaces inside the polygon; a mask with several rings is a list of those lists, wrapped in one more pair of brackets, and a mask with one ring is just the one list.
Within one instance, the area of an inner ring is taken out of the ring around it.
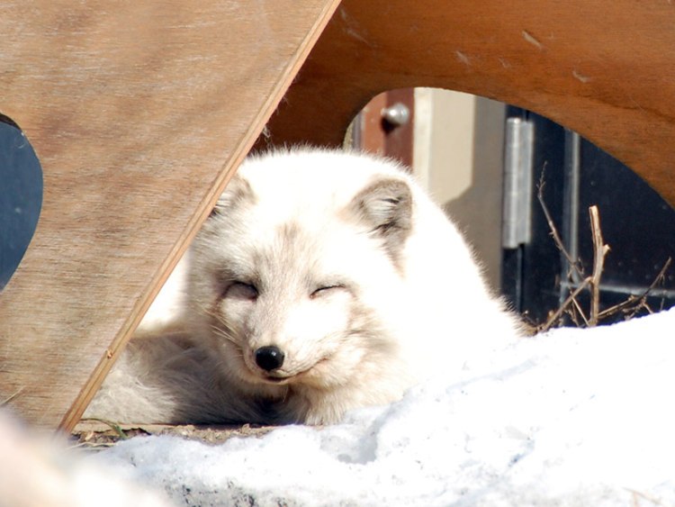
{"label": "darker orange-brown wooden panel arching above the fox", "polygon": [[656,0],[344,0],[258,146],[338,144],[383,90],[443,87],[579,131],[675,204],[673,26]]}

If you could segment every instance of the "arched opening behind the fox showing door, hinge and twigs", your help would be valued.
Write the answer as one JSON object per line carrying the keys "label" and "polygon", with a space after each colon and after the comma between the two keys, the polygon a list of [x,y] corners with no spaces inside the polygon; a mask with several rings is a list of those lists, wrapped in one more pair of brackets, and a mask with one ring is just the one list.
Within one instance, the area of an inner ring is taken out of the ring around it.
{"label": "arched opening behind the fox showing door, hinge and twigs", "polygon": [[594,271],[591,206],[610,247],[599,323],[675,306],[673,207],[632,169],[544,116],[460,92],[390,90],[356,116],[345,144],[408,165],[459,223],[488,282],[537,327],[558,309],[556,325],[586,325],[589,291],[572,301],[581,310],[568,297]]}

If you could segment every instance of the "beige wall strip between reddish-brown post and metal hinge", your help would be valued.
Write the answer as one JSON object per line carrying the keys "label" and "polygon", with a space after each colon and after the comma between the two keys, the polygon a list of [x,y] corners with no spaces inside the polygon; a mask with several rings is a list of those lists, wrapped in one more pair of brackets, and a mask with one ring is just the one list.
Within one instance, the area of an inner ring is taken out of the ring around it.
{"label": "beige wall strip between reddish-brown post and metal hinge", "polygon": [[413,170],[458,222],[500,286],[504,104],[430,88],[415,90]]}

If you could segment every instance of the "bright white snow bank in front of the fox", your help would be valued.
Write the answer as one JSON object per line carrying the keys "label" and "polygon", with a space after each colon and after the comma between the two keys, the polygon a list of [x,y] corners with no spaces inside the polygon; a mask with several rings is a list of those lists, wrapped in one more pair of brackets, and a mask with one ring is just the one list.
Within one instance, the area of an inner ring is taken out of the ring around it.
{"label": "bright white snow bank in front of the fox", "polygon": [[552,330],[334,426],[87,459],[176,504],[675,505],[673,330],[675,310]]}

